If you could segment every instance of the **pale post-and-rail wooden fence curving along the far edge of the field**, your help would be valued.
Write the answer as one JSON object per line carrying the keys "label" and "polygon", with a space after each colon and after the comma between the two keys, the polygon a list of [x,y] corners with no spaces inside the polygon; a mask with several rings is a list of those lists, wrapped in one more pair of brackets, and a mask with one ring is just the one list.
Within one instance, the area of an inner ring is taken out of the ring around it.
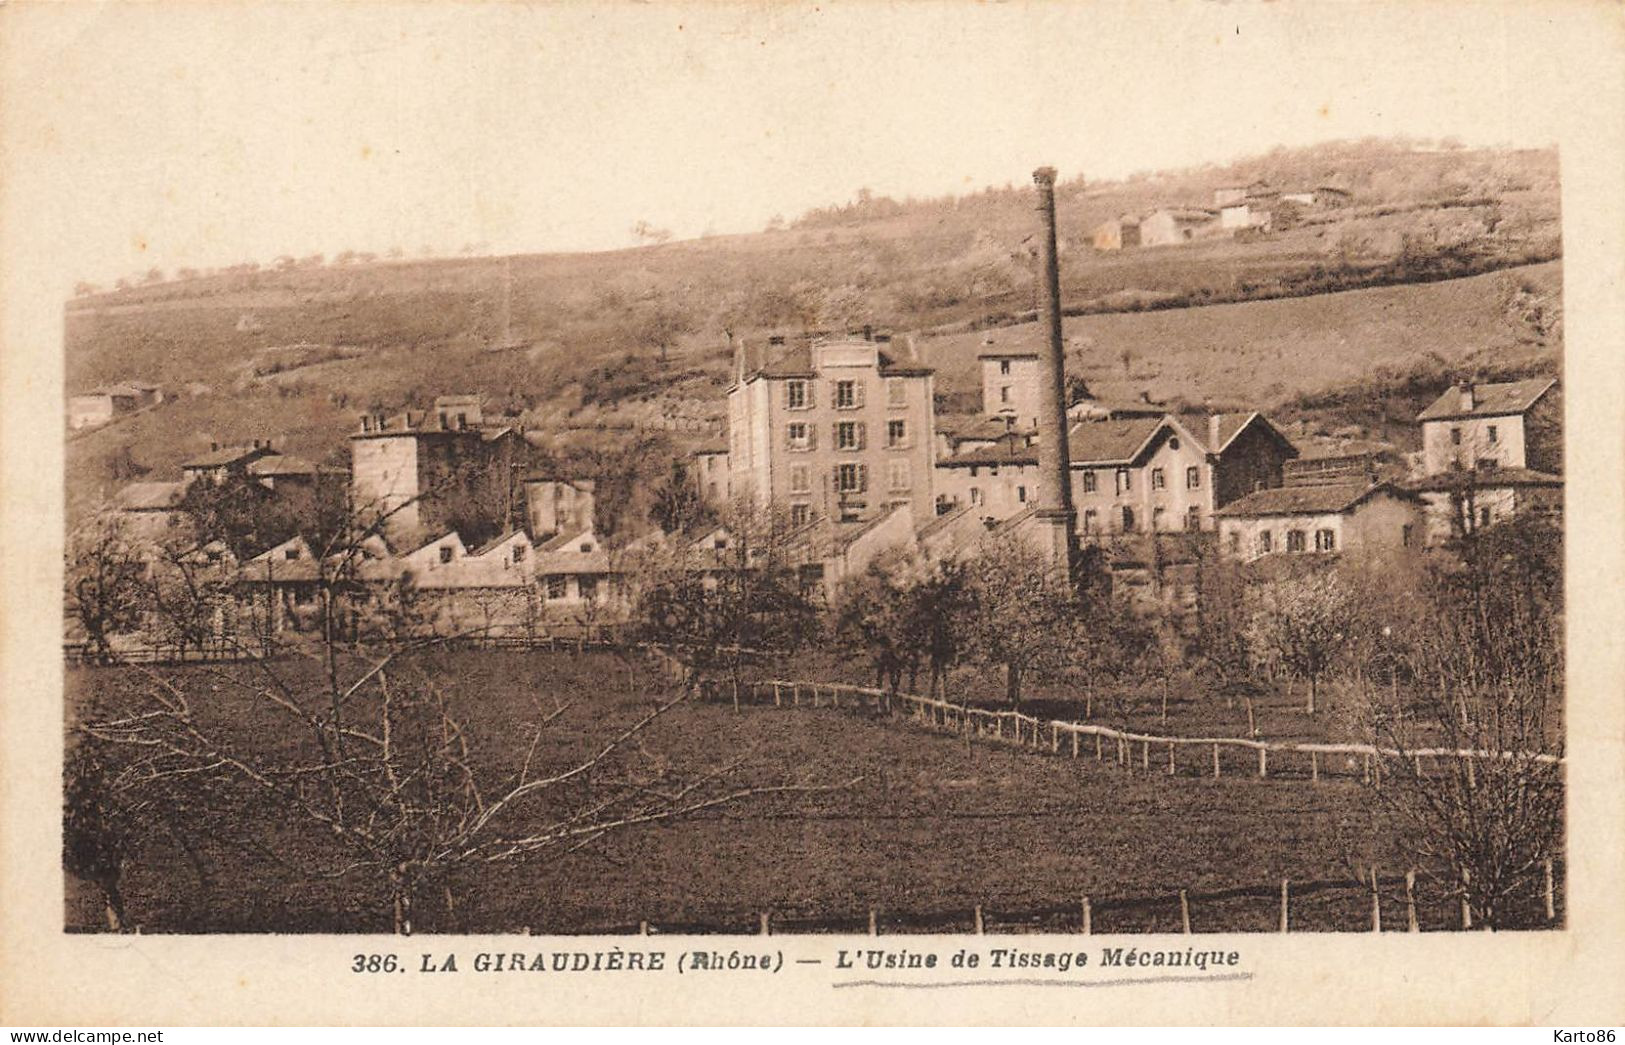
{"label": "pale post-and-rail wooden fence curving along the far edge of the field", "polygon": [[[712,700],[734,699],[731,687],[713,679],[702,683],[702,696]],[[1446,748],[1399,751],[1375,744],[1263,741],[1238,736],[1157,736],[1084,722],[1045,722],[1016,710],[988,710],[918,694],[890,694],[884,689],[840,683],[788,679],[741,683],[738,700],[775,707],[848,707],[884,715],[902,713],[926,728],[959,736],[1016,744],[1058,757],[1092,757],[1097,762],[1113,762],[1144,772],[1155,770],[1170,777],[1211,775],[1217,778],[1227,772],[1311,782],[1318,782],[1321,777],[1358,777],[1362,783],[1381,787],[1383,759],[1404,759],[1415,765],[1419,775],[1441,762],[1459,759],[1466,762],[1469,777],[1474,774],[1474,764],[1482,759],[1528,757],[1536,762],[1562,764],[1562,759],[1552,754],[1518,756],[1514,752]]]}

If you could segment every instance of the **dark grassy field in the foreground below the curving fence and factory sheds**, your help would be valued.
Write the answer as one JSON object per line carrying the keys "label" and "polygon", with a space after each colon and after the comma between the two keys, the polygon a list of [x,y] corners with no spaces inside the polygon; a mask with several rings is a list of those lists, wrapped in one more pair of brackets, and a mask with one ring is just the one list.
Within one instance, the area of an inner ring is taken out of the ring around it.
{"label": "dark grassy field in the foreground below the curving fence and factory sheds", "polygon": [[[639,681],[647,676],[609,655],[434,657],[437,678],[466,709],[478,757],[491,765],[517,764],[538,699],[574,700],[548,730],[543,765],[582,757],[652,699]],[[294,743],[283,720],[219,676],[185,668],[172,678],[206,722]],[[70,670],[70,713],[117,705],[141,684],[127,670]],[[738,757],[744,782],[856,783],[748,800],[613,835],[554,863],[460,874],[450,908],[439,897],[419,905],[422,930],[630,931],[647,920],[663,931],[746,931],[759,912],[772,912],[783,930],[860,930],[873,907],[886,931],[968,931],[975,905],[990,930],[1064,930],[1089,895],[1097,931],[1176,931],[1181,889],[1193,897],[1196,931],[1269,930],[1279,881],[1289,878],[1303,894],[1295,926],[1352,931],[1370,923],[1370,897],[1354,869],[1404,868],[1358,785],[1168,780],[965,744],[847,710],[682,705],[629,757],[686,772]],[[271,814],[236,816],[252,821],[249,830],[195,819],[195,858],[159,842],[135,861],[132,923],[150,933],[388,930],[374,884],[306,873],[322,855],[318,837]],[[1424,895],[1425,925],[1445,928],[1450,917],[1448,904]],[[1402,907],[1388,918],[1402,926]],[[72,878],[67,925],[99,925],[94,891]]]}

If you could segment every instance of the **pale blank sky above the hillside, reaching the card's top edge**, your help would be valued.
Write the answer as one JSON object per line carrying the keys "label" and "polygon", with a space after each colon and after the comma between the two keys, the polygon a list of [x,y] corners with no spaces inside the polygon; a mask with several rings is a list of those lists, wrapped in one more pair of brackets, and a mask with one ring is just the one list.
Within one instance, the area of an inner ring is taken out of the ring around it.
{"label": "pale blank sky above the hillside, reaching the card's top edge", "polygon": [[[598,250],[853,197],[1368,135],[1547,145],[1532,5],[128,5],[8,11],[42,286]],[[1466,15],[1472,15],[1471,18]],[[18,163],[23,159],[23,163]]]}

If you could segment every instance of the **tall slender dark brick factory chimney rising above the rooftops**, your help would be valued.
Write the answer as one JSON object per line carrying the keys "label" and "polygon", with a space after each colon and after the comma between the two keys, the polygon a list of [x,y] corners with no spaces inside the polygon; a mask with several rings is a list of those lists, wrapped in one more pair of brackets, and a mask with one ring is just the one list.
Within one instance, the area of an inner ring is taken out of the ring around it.
{"label": "tall slender dark brick factory chimney rising above the rooftops", "polygon": [[1066,346],[1061,341],[1061,268],[1055,245],[1055,167],[1032,172],[1038,187],[1038,216],[1043,221],[1040,260],[1043,265],[1043,364],[1038,367],[1038,505],[1040,523],[1050,528],[1056,562],[1071,570],[1077,551],[1076,510],[1072,509],[1071,453],[1066,447]]}

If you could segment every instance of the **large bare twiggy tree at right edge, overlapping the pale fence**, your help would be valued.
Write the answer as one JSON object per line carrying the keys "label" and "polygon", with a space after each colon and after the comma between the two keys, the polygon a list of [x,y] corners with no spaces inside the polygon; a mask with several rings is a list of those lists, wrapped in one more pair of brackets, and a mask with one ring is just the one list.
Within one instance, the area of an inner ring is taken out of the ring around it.
{"label": "large bare twiggy tree at right edge, overlapping the pale fence", "polygon": [[1474,528],[1414,585],[1365,595],[1393,835],[1480,928],[1536,921],[1562,852],[1562,535],[1532,514]]}

